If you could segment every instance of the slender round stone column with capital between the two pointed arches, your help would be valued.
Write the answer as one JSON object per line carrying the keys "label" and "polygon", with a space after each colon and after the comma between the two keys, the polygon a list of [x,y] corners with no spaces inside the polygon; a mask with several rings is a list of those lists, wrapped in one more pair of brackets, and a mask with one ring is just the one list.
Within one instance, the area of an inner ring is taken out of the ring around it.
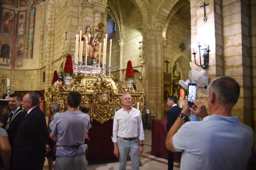
{"label": "slender round stone column with capital between the two pointed arches", "polygon": [[155,37],[156,41],[156,104],[157,104],[157,119],[163,118],[163,37]]}

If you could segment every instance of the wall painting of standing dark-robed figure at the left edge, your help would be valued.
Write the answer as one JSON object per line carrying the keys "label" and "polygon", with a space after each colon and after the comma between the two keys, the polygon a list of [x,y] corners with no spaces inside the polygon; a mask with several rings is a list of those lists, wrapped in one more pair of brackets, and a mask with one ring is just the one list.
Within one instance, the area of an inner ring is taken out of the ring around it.
{"label": "wall painting of standing dark-robed figure at the left edge", "polygon": [[0,37],[0,65],[10,66],[11,63],[11,37],[2,36]]}

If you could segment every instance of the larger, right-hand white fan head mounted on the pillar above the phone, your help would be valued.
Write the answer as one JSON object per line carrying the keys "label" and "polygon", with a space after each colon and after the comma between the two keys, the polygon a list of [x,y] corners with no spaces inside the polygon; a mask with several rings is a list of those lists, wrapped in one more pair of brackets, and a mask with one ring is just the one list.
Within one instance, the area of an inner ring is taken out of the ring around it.
{"label": "larger, right-hand white fan head mounted on the pillar above the phone", "polygon": [[204,91],[208,91],[209,77],[206,76],[206,72],[204,70],[201,72],[197,70],[191,70],[188,73],[188,77],[192,82],[195,82],[198,86],[203,87]]}

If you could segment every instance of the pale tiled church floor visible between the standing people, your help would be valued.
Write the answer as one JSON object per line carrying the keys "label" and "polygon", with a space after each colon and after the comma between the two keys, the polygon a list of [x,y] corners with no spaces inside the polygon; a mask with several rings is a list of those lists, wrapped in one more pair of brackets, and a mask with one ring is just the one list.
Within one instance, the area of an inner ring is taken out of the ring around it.
{"label": "pale tiled church floor visible between the standing people", "polygon": [[[164,158],[158,158],[151,155],[151,130],[144,130],[145,140],[144,140],[144,152],[140,156],[140,160],[142,162],[142,166],[140,170],[164,170],[168,169],[168,161]],[[104,164],[94,164],[89,165],[89,170],[118,170],[119,163],[104,163]],[[180,169],[180,164],[174,162],[174,170]],[[132,170],[131,161],[127,162],[127,170]],[[44,170],[48,170],[48,163],[45,161]]]}

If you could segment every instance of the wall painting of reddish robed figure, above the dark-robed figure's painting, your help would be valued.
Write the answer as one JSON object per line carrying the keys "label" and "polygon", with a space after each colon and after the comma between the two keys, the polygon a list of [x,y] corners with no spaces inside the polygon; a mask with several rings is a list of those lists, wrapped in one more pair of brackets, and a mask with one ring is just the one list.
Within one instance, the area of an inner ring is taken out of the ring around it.
{"label": "wall painting of reddish robed figure, above the dark-robed figure's painting", "polygon": [[2,26],[2,32],[6,34],[12,34],[12,27],[13,27],[13,16],[14,12],[11,10],[4,9],[3,10],[3,26]]}

